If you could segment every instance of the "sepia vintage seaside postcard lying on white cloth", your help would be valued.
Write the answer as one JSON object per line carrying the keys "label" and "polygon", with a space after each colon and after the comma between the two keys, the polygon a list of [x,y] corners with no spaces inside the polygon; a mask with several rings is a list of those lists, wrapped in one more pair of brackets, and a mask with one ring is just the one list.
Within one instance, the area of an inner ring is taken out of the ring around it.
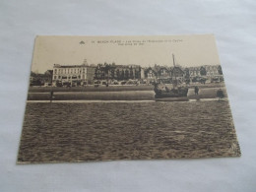
{"label": "sepia vintage seaside postcard lying on white cloth", "polygon": [[214,35],[35,38],[18,163],[239,156]]}

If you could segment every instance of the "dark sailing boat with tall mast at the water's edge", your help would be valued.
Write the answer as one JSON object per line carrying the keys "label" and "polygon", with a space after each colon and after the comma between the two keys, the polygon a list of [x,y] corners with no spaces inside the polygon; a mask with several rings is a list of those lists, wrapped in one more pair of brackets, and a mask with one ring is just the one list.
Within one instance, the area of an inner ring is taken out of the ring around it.
{"label": "dark sailing boat with tall mast at the water's edge", "polygon": [[172,89],[168,89],[165,85],[160,85],[160,83],[155,83],[154,84],[154,92],[155,92],[155,98],[167,98],[167,97],[185,97],[187,99],[187,93],[188,93],[188,88],[187,87],[181,87],[178,85],[177,77],[176,77],[176,64],[175,64],[175,59],[174,55],[172,54],[172,59],[173,59],[173,75],[174,75],[174,80],[172,80]]}

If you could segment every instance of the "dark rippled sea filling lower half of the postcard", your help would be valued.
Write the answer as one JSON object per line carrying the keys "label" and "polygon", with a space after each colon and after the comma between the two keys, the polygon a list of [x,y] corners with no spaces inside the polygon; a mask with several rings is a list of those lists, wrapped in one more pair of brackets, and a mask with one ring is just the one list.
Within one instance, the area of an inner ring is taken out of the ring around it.
{"label": "dark rippled sea filling lower half of the postcard", "polygon": [[27,103],[18,161],[236,157],[227,101]]}

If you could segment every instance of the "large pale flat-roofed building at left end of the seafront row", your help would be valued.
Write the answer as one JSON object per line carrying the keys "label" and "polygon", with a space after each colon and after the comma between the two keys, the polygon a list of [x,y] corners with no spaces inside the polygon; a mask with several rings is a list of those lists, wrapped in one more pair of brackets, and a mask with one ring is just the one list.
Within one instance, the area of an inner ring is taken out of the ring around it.
{"label": "large pale flat-roofed building at left end of the seafront row", "polygon": [[53,65],[53,86],[84,86],[93,84],[96,67],[82,65]]}

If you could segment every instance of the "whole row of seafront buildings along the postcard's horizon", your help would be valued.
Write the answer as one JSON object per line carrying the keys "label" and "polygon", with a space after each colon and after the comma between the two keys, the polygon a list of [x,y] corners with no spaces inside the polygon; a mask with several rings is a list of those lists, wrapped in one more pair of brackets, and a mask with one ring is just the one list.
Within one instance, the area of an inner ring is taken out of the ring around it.
{"label": "whole row of seafront buildings along the postcard's horizon", "polygon": [[94,84],[95,81],[128,81],[144,80],[148,82],[156,80],[171,81],[174,78],[179,81],[205,77],[206,79],[222,77],[221,65],[205,65],[199,67],[181,66],[166,67],[155,65],[142,68],[140,65],[115,65],[97,64],[88,65],[60,65],[54,64],[52,73],[53,84],[71,84],[75,86]]}

